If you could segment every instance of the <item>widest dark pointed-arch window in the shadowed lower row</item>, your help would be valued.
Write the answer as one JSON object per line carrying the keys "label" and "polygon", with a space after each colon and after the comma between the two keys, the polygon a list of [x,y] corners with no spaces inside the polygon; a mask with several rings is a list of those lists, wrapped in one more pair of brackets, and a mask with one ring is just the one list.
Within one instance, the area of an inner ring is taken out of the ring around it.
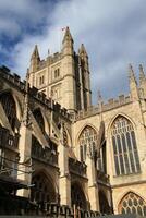
{"label": "widest dark pointed-arch window in the shadowed lower row", "polygon": [[32,187],[31,191],[31,199],[33,202],[56,202],[54,187],[50,180],[44,173],[38,173],[35,177],[33,177],[32,184],[34,184],[34,187]]}

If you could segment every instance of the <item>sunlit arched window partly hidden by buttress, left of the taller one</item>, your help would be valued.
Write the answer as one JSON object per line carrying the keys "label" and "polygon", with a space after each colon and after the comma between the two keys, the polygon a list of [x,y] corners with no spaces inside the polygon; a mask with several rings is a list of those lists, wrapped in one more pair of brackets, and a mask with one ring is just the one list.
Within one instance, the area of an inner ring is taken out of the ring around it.
{"label": "sunlit arched window partly hidden by buttress, left of the taller one", "polygon": [[80,135],[80,154],[81,161],[86,160],[87,154],[93,155],[97,146],[97,133],[90,128],[86,126]]}

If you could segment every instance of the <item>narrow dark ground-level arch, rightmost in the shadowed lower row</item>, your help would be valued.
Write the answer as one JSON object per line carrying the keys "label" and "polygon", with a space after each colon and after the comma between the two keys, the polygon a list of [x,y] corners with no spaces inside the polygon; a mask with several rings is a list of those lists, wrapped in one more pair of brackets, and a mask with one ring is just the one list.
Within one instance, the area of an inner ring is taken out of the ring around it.
{"label": "narrow dark ground-level arch, rightmost in the shadowed lower row", "polygon": [[101,214],[111,214],[111,208],[109,206],[108,199],[102,191],[99,191],[99,207]]}

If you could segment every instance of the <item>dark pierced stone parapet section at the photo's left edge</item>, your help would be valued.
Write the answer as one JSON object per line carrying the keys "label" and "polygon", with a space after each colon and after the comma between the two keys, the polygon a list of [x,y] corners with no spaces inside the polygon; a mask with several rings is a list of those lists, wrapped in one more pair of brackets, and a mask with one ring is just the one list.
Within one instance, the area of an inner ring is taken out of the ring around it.
{"label": "dark pierced stone parapet section at the photo's left edge", "polygon": [[10,149],[19,149],[19,134],[11,135],[10,131],[0,125],[0,147],[5,147]]}

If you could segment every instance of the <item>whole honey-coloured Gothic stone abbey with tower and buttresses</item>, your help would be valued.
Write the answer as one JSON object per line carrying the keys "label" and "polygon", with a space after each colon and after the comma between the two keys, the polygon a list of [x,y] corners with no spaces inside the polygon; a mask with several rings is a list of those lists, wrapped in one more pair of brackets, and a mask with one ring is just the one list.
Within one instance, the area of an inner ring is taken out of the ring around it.
{"label": "whole honey-coloured Gothic stone abbey with tower and buttresses", "polygon": [[146,216],[143,65],[126,96],[95,106],[90,74],[69,27],[60,52],[35,46],[24,81],[0,66],[0,215]]}

